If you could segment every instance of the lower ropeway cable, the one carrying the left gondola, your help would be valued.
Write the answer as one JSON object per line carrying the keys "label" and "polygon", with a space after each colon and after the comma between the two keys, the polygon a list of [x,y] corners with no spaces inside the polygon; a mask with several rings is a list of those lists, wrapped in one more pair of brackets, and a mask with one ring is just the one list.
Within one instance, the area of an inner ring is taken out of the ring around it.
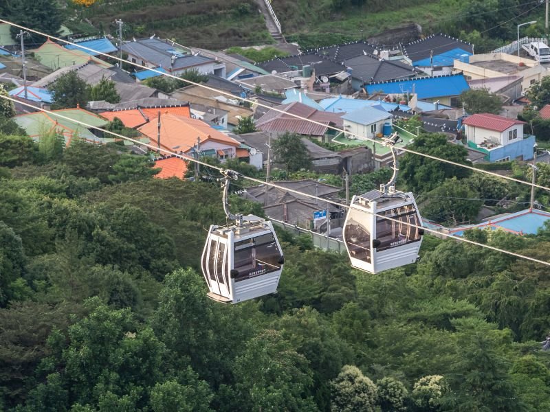
{"label": "lower ropeway cable, the one carrying the left gondola", "polygon": [[[29,103],[25,103],[25,102],[21,102],[17,99],[14,99],[14,98],[10,98],[9,96],[5,96],[5,95],[0,95],[0,98],[3,98],[5,100],[10,100],[12,102],[17,102],[19,104],[23,104],[24,106],[29,106],[29,107],[32,107],[38,111],[41,111],[43,113],[47,113],[49,115],[53,115],[53,116],[57,116],[57,117],[60,117],[61,119],[65,119],[65,120],[68,120],[69,122],[73,122],[73,123],[76,123],[76,124],[80,124],[82,126],[86,126],[87,128],[94,128],[96,130],[99,130],[103,133],[107,133],[107,134],[110,134],[110,135],[113,135],[113,136],[116,136],[116,137],[119,137],[120,139],[125,139],[125,140],[128,140],[128,141],[131,141],[133,142],[134,144],[138,144],[140,146],[146,146],[147,148],[150,148],[151,150],[153,151],[158,151],[158,152],[165,152],[166,154],[168,155],[172,155],[173,157],[178,157],[179,159],[182,159],[182,160],[186,160],[186,161],[192,161],[192,162],[195,162],[195,163],[198,163],[200,165],[203,165],[205,166],[206,168],[212,168],[214,170],[217,170],[218,172],[221,172],[223,170],[223,168],[220,168],[218,166],[214,166],[214,165],[210,165],[209,163],[206,163],[206,162],[203,162],[203,161],[200,161],[199,159],[195,159],[195,158],[192,158],[192,157],[189,157],[187,155],[181,155],[179,153],[176,153],[176,152],[172,152],[170,150],[166,150],[164,148],[157,148],[151,144],[145,144],[141,141],[138,141],[136,139],[132,139],[131,137],[126,137],[126,136],[123,136],[123,135],[120,135],[119,133],[115,133],[115,132],[112,132],[111,130],[105,130],[103,128],[100,128],[98,126],[94,126],[94,125],[91,125],[91,124],[87,124],[85,122],[81,122],[79,120],[76,120],[76,119],[72,119],[71,117],[67,117],[67,116],[63,116],[59,113],[56,113],[56,112],[53,112],[53,111],[50,111],[50,110],[46,110],[45,108],[39,108],[39,107],[35,107],[35,106],[32,106],[32,104],[29,104]],[[336,205],[338,207],[342,207],[344,209],[349,209],[350,206],[349,205],[344,205],[342,203],[339,203],[339,202],[336,202],[336,201],[331,201],[329,199],[326,199],[326,198],[320,198],[318,196],[314,196],[313,194],[307,194],[307,193],[304,193],[304,192],[300,192],[299,190],[294,190],[290,187],[282,187],[280,185],[277,185],[276,183],[272,183],[272,182],[267,182],[267,181],[263,181],[263,180],[260,180],[260,179],[256,179],[254,177],[250,177],[250,176],[245,176],[244,174],[241,174],[239,173],[239,176],[241,176],[243,179],[247,179],[249,181],[252,181],[254,183],[258,183],[259,185],[268,185],[268,186],[271,186],[271,187],[276,187],[277,189],[280,189],[280,190],[283,190],[285,192],[290,192],[290,193],[294,193],[294,194],[298,194],[300,196],[304,196],[304,197],[308,197],[308,198],[311,198],[311,199],[314,199],[315,201],[321,201],[323,203],[329,203],[331,205]],[[396,219],[396,218],[391,218],[389,216],[384,216],[384,215],[381,215],[381,214],[375,214],[373,213],[372,211],[365,211],[366,214],[371,214],[373,216],[376,216],[377,218],[382,218],[382,219],[385,219],[385,220],[391,220],[393,222],[397,222],[401,225],[407,225],[407,226],[410,226],[410,227],[415,227],[417,229],[423,229],[424,231],[428,231],[428,232],[432,232],[432,233],[436,233],[437,235],[439,236],[444,236],[445,238],[452,238],[454,240],[457,240],[459,242],[465,242],[465,243],[469,243],[469,244],[474,244],[478,247],[485,247],[487,249],[491,249],[492,251],[496,251],[496,252],[500,252],[500,253],[505,253],[507,255],[511,255],[511,256],[515,256],[516,258],[520,258],[520,259],[525,259],[525,260],[529,260],[531,262],[535,262],[535,263],[539,263],[539,264],[544,264],[546,266],[550,266],[550,262],[544,262],[543,260],[538,260],[536,258],[531,258],[529,256],[525,256],[525,255],[520,255],[519,253],[515,253],[515,252],[511,252],[511,251],[506,251],[505,249],[500,249],[498,247],[493,247],[493,246],[489,246],[488,244],[483,244],[483,243],[479,243],[479,242],[474,242],[473,240],[468,240],[468,239],[465,239],[465,238],[459,238],[457,236],[452,236],[450,234],[447,234],[447,233],[441,233],[437,230],[434,230],[434,229],[430,229],[428,227],[422,227],[422,226],[419,226],[419,225],[413,225],[412,223],[410,222],[401,222],[400,220]]]}

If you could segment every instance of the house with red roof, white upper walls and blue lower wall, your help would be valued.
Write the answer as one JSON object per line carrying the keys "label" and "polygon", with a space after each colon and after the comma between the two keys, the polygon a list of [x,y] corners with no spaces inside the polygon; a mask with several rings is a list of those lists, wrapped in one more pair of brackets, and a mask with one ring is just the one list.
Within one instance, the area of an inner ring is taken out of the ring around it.
{"label": "house with red roof, white upper walls and blue lower wall", "polygon": [[523,133],[516,119],[481,113],[463,120],[467,145],[485,153],[485,160],[509,161],[533,159],[535,137]]}

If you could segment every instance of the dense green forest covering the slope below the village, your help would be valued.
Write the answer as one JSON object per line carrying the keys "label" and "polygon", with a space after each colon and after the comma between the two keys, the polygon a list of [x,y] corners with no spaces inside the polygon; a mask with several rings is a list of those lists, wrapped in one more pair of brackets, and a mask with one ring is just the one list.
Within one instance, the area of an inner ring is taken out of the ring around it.
{"label": "dense green forest covering the slope below the village", "polygon": [[[0,409],[550,408],[547,266],[426,236],[419,263],[367,275],[281,232],[278,293],[223,306],[198,272],[218,185],[73,142],[0,136]],[[468,236],[550,259],[550,226]]]}

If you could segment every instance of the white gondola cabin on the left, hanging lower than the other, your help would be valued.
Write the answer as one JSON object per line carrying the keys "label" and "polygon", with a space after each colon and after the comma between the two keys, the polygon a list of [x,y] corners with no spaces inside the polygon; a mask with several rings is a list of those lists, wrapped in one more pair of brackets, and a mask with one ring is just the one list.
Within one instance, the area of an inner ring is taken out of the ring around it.
{"label": "white gondola cabin on the left, hanging lower than the other", "polygon": [[208,231],[201,266],[215,301],[236,304],[277,290],[284,258],[272,222],[252,215],[243,220]]}

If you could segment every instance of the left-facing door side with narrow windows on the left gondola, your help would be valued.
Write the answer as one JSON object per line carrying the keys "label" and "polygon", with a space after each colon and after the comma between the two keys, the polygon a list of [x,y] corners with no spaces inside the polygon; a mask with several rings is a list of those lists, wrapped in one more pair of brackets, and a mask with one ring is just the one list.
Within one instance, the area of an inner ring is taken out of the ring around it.
{"label": "left-facing door side with narrow windows on the left gondola", "polygon": [[215,235],[210,236],[210,244],[208,244],[205,258],[210,292],[231,300],[228,242],[228,238]]}

